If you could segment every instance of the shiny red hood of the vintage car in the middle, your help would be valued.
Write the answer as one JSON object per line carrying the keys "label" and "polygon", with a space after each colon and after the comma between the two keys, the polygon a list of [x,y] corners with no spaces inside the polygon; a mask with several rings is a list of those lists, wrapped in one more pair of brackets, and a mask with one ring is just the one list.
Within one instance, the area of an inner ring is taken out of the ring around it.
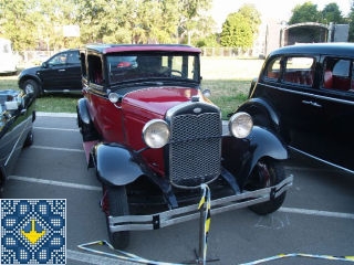
{"label": "shiny red hood of the vintage car in the middle", "polygon": [[139,112],[147,118],[163,118],[168,109],[197,95],[199,95],[197,88],[150,87],[126,94],[122,107],[125,110]]}

